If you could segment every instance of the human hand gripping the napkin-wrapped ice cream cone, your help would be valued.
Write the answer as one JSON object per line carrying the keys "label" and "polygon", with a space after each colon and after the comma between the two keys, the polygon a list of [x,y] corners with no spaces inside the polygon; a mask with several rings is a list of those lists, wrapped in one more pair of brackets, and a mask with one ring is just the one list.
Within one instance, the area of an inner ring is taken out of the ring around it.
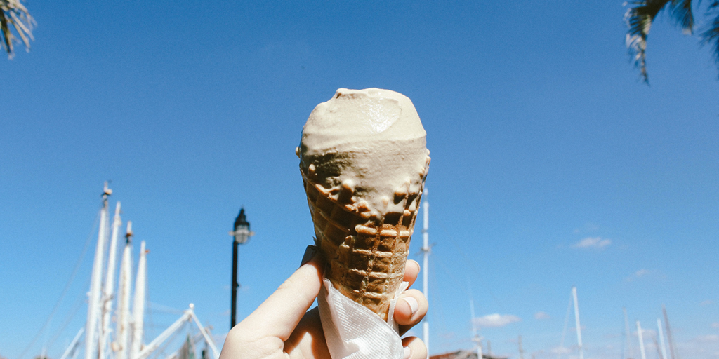
{"label": "human hand gripping the napkin-wrapped ice cream cone", "polygon": [[[323,270],[319,251],[308,246],[300,268],[230,330],[220,359],[331,359],[319,310],[307,310],[319,294]],[[407,261],[404,280],[411,286],[418,274],[419,264]],[[394,314],[400,335],[422,320],[427,306],[427,300],[416,289],[400,295]],[[418,337],[406,337],[402,345],[405,359],[427,358],[427,349]]]}

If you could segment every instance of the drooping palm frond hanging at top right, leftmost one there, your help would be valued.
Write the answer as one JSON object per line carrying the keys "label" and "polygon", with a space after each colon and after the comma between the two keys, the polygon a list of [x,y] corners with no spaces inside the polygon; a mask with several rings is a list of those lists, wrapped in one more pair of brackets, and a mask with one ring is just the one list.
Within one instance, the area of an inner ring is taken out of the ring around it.
{"label": "drooping palm frond hanging at top right, leftmost one there", "polygon": [[[686,1],[686,0],[685,0]],[[629,9],[624,14],[624,21],[627,24],[626,46],[629,55],[632,57],[634,66],[638,67],[644,83],[649,84],[649,76],[646,73],[646,37],[649,36],[649,29],[664,6],[669,3],[682,2],[680,0],[637,0],[629,3]],[[691,2],[691,1],[689,1]],[[677,4],[677,7],[682,7]],[[693,22],[693,19],[692,19]]]}

